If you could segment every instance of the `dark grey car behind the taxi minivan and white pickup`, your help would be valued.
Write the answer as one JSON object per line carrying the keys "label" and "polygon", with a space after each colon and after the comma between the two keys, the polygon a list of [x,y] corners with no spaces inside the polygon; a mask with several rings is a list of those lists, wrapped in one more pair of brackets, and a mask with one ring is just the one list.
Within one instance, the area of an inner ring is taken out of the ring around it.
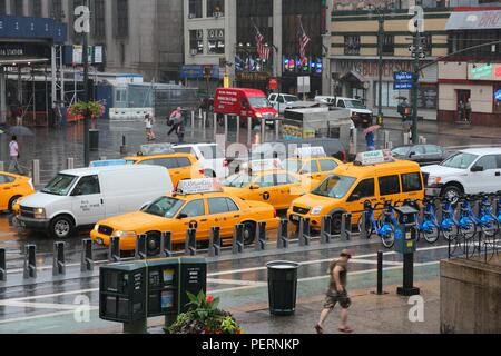
{"label": "dark grey car behind the taxi minivan and white pickup", "polygon": [[392,150],[397,159],[412,160],[421,166],[438,165],[444,161],[450,154],[438,145],[407,145]]}

